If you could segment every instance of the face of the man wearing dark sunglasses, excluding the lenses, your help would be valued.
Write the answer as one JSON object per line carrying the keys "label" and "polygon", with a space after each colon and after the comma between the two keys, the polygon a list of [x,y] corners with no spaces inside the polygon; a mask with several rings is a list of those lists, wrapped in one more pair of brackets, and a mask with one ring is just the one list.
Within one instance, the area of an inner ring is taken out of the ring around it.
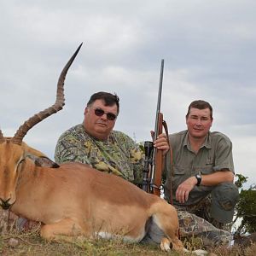
{"label": "face of the man wearing dark sunglasses, excluding the lenses", "polygon": [[[102,116],[97,116],[95,109],[102,109],[105,113]],[[89,108],[84,110],[84,129],[90,136],[96,137],[99,140],[106,140],[113,130],[115,120],[109,120],[107,113],[113,113],[115,116],[118,114],[117,105],[105,106],[103,100],[96,100]]]}

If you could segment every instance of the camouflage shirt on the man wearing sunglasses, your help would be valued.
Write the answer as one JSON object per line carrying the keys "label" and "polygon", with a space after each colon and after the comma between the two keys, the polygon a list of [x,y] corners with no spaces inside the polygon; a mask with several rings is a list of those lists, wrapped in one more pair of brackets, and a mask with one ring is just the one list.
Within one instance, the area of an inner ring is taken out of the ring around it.
{"label": "camouflage shirt on the man wearing sunglasses", "polygon": [[143,175],[143,152],[131,137],[121,131],[112,131],[108,140],[90,137],[84,125],[75,125],[65,131],[55,148],[55,161],[80,162],[91,167],[140,183]]}

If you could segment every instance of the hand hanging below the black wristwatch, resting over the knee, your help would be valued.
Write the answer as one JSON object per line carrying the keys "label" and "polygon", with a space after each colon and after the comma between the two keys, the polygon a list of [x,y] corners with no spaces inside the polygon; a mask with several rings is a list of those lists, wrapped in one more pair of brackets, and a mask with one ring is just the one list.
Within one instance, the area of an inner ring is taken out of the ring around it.
{"label": "hand hanging below the black wristwatch, resting over the knee", "polygon": [[194,189],[196,183],[196,177],[189,177],[183,183],[179,184],[176,190],[176,200],[180,203],[188,201],[189,193]]}

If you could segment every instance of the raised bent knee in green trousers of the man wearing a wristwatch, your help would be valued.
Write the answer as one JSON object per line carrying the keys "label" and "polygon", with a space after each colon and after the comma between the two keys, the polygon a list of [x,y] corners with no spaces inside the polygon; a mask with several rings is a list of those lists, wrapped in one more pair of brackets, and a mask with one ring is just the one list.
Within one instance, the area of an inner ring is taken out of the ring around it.
{"label": "raised bent knee in green trousers of the man wearing a wristwatch", "polygon": [[220,223],[230,223],[238,200],[239,192],[234,183],[218,184],[212,189],[212,218]]}

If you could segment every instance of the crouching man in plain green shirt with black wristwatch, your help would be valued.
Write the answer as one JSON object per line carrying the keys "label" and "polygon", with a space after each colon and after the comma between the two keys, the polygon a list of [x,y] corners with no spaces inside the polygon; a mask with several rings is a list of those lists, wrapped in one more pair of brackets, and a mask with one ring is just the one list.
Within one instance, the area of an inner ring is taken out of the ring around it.
{"label": "crouching man in plain green shirt with black wristwatch", "polygon": [[172,162],[168,154],[165,197],[170,201],[172,196],[178,210],[226,229],[232,222],[238,189],[233,183],[232,143],[224,134],[210,131],[212,121],[208,102],[190,103],[188,129],[170,135]]}

